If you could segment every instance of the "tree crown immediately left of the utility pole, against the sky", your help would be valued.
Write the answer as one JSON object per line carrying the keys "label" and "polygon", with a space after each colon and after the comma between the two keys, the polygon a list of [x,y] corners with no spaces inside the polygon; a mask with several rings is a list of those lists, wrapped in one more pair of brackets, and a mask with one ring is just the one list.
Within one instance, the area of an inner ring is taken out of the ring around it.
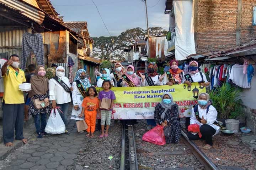
{"label": "tree crown immediately left of the utility pole, against the sky", "polygon": [[119,38],[129,44],[135,44],[137,40],[143,40],[145,32],[142,28],[137,27],[133,29],[127,29],[119,35]]}

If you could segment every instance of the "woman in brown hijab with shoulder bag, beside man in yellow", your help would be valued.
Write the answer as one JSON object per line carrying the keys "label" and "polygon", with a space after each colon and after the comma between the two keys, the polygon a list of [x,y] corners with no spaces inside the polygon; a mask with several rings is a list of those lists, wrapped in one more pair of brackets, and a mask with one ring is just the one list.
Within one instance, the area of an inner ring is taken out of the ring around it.
{"label": "woman in brown hijab with shoulder bag, beside man in yellow", "polygon": [[32,99],[29,103],[28,114],[33,115],[38,139],[41,139],[42,135],[48,136],[48,134],[44,132],[44,128],[46,127],[47,114],[50,113],[50,106],[37,109],[33,103],[33,100],[37,98],[39,98],[39,101],[44,101],[44,104],[49,103],[48,79],[45,77],[45,74],[44,66],[37,66],[36,75],[30,78],[31,91],[28,94],[28,97]]}

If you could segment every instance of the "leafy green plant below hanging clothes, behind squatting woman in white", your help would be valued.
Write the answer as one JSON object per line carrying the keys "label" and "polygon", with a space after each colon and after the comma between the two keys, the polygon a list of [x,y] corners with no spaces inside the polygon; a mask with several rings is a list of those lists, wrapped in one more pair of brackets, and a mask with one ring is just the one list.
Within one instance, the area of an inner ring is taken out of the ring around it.
{"label": "leafy green plant below hanging clothes, behind squatting woman in white", "polygon": [[209,93],[220,119],[236,119],[243,114],[240,92],[240,89],[224,83],[221,87],[217,87]]}

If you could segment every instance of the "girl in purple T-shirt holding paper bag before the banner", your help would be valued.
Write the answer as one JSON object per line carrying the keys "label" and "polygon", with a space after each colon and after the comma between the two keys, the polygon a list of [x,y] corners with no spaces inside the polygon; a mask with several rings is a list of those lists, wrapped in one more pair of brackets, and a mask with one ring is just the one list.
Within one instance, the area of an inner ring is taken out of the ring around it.
{"label": "girl in purple T-shirt holding paper bag before the banner", "polygon": [[[110,126],[110,120],[111,120],[111,113],[112,113],[112,108],[114,104],[114,100],[116,100],[116,96],[114,95],[114,92],[111,89],[111,83],[110,80],[104,80],[102,83],[102,87],[104,90],[100,91],[99,93],[99,106],[101,106],[102,99],[111,99],[111,104],[108,106],[108,109],[101,109],[101,135],[100,138],[102,137],[108,137],[108,129]],[[106,120],[106,132],[104,133],[104,127],[105,127],[105,120]]]}

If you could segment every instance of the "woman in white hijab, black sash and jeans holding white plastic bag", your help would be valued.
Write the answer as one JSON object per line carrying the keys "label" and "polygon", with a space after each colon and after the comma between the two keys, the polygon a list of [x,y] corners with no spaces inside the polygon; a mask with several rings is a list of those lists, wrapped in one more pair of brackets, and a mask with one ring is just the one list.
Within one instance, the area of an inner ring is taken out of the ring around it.
{"label": "woman in white hijab, black sash and jeans holding white plastic bag", "polygon": [[[70,94],[73,91],[73,87],[69,83],[69,79],[65,77],[64,67],[57,67],[55,74],[56,77],[49,80],[50,101],[52,101],[53,109],[59,107],[60,111],[62,111],[60,116],[66,126],[69,103],[71,102]],[[66,130],[65,134],[69,135],[70,132]]]}

